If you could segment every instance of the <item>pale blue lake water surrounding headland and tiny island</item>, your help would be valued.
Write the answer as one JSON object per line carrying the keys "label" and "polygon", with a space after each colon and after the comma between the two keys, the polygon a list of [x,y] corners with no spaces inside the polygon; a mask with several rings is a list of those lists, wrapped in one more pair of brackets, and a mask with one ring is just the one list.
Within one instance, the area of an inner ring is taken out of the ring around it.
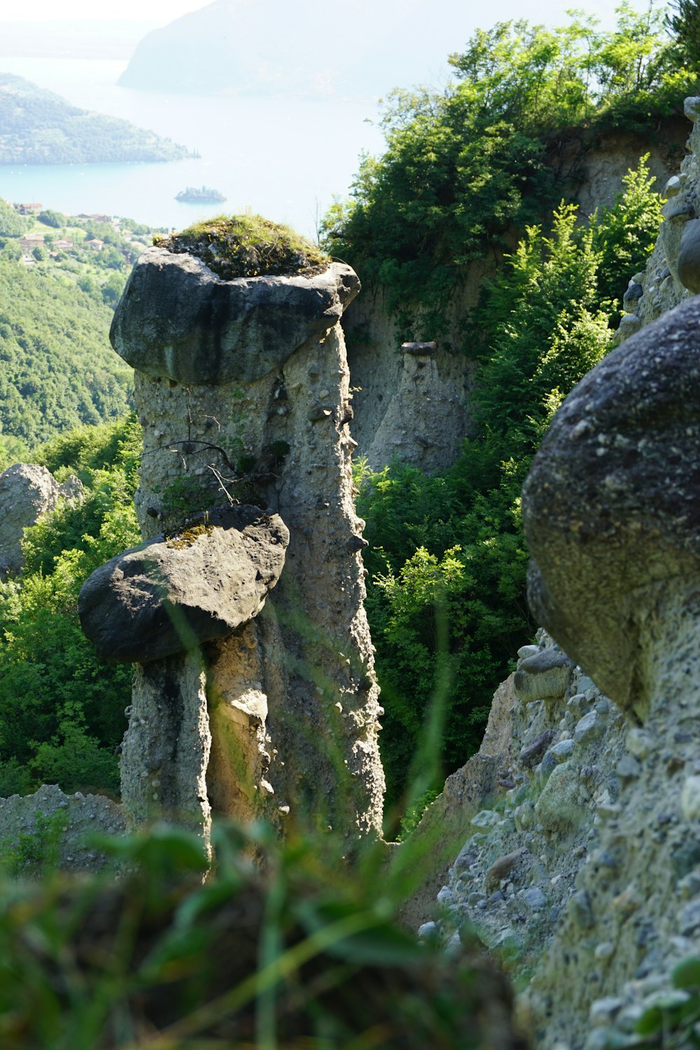
{"label": "pale blue lake water surrounding headland and tiny island", "polygon": [[[383,148],[378,128],[366,123],[377,116],[370,99],[158,94],[118,87],[125,66],[103,60],[0,59],[2,71],[25,77],[76,106],[149,128],[197,150],[201,160],[0,166],[0,196],[177,229],[222,210],[251,208],[313,236],[333,195],[347,194],[360,152]],[[220,190],[226,204],[173,200],[186,186],[203,184]]]}

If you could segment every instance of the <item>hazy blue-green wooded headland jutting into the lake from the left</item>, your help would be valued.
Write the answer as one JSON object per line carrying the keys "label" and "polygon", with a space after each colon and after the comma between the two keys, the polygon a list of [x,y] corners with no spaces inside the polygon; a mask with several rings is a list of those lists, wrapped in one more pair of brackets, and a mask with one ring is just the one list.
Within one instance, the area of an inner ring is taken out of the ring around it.
{"label": "hazy blue-green wooded headland jutting into the lake from the left", "polygon": [[0,164],[181,161],[185,146],[0,72]]}

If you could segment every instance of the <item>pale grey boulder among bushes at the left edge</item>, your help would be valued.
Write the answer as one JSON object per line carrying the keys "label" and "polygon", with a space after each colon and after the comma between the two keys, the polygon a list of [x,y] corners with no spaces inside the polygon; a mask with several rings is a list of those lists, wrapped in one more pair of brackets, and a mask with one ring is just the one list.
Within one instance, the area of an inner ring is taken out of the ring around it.
{"label": "pale grey boulder among bushes at the left edge", "polygon": [[24,529],[55,510],[59,499],[80,499],[83,485],[72,475],[62,485],[45,466],[15,463],[0,474],[0,580],[20,572]]}

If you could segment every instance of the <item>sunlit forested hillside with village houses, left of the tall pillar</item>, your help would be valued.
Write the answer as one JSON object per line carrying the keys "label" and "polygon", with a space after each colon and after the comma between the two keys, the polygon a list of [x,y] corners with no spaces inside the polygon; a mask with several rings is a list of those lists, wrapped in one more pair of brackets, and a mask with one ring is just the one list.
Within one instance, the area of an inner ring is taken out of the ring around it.
{"label": "sunlit forested hillside with village houses, left of the tall pillar", "polygon": [[147,227],[0,201],[0,466],[82,423],[124,415],[131,372],[109,324]]}

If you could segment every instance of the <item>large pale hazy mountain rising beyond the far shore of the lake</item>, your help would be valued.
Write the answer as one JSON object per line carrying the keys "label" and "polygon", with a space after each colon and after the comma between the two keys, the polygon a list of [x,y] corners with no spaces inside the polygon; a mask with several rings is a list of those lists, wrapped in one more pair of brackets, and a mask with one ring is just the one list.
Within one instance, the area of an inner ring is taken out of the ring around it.
{"label": "large pale hazy mountain rising beyond the far shore of the lake", "polygon": [[410,82],[427,56],[442,62],[461,42],[452,20],[443,46],[432,7],[425,0],[354,0],[349,8],[327,0],[215,0],[147,34],[119,83],[168,93],[376,98]]}

